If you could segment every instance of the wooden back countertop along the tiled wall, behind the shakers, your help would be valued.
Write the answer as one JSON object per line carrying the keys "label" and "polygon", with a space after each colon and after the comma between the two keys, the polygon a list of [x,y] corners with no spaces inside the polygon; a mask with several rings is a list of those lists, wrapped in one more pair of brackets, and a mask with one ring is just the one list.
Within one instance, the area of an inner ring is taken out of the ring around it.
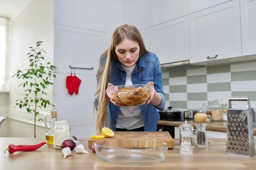
{"label": "wooden back countertop along the tiled wall, behind the shakers", "polygon": [[[165,120],[159,120],[157,122],[158,125],[169,125],[169,126],[180,126],[183,124],[184,121],[177,121],[177,122],[171,122],[171,121],[165,121]],[[196,123],[193,120],[189,120],[188,123],[192,125],[194,128],[196,128]],[[206,123],[206,130],[213,130],[218,132],[226,132],[227,131],[227,121],[212,121]],[[256,129],[253,129],[253,134],[256,135]]]}

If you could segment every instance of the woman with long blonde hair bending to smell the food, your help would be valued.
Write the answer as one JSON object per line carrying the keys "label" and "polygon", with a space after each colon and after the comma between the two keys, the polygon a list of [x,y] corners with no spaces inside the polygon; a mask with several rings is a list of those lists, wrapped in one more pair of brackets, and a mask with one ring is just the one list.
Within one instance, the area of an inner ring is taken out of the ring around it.
{"label": "woman with long blonde hair bending to smell the food", "polygon": [[[166,105],[160,62],[144,45],[140,31],[123,25],[113,32],[108,49],[99,59],[94,107],[96,132],[102,127],[113,131],[156,131],[159,113]],[[112,85],[153,84],[150,99],[141,106],[119,106],[112,100]],[[93,108],[94,109],[94,108]]]}

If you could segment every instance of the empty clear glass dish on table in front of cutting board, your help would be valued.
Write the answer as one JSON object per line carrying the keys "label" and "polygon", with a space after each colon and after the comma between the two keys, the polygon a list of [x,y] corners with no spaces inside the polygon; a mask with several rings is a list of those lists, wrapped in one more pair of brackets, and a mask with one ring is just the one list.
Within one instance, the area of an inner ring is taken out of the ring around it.
{"label": "empty clear glass dish on table in front of cutting board", "polygon": [[[133,139],[134,140],[134,139]],[[143,145],[151,148],[141,147]],[[96,155],[99,159],[115,164],[149,165],[157,164],[166,159],[168,144],[160,141],[134,140],[129,145],[121,140],[99,140],[94,142]]]}

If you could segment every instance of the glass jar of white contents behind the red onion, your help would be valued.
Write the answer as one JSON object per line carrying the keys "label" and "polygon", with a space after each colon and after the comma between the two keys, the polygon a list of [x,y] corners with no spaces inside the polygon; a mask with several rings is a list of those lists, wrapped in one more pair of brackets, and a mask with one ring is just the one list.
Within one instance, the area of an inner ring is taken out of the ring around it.
{"label": "glass jar of white contents behind the red onion", "polygon": [[61,149],[62,142],[70,139],[70,126],[68,121],[56,121],[53,129],[53,147]]}

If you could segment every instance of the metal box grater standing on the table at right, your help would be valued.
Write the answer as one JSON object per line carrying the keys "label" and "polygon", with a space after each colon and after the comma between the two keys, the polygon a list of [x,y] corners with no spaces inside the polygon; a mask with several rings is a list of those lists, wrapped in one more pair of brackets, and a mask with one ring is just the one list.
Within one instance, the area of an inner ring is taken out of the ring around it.
{"label": "metal box grater standing on the table at right", "polygon": [[[232,101],[246,101],[247,109],[232,108]],[[247,97],[230,97],[227,107],[226,154],[252,157],[255,155],[253,116]]]}

